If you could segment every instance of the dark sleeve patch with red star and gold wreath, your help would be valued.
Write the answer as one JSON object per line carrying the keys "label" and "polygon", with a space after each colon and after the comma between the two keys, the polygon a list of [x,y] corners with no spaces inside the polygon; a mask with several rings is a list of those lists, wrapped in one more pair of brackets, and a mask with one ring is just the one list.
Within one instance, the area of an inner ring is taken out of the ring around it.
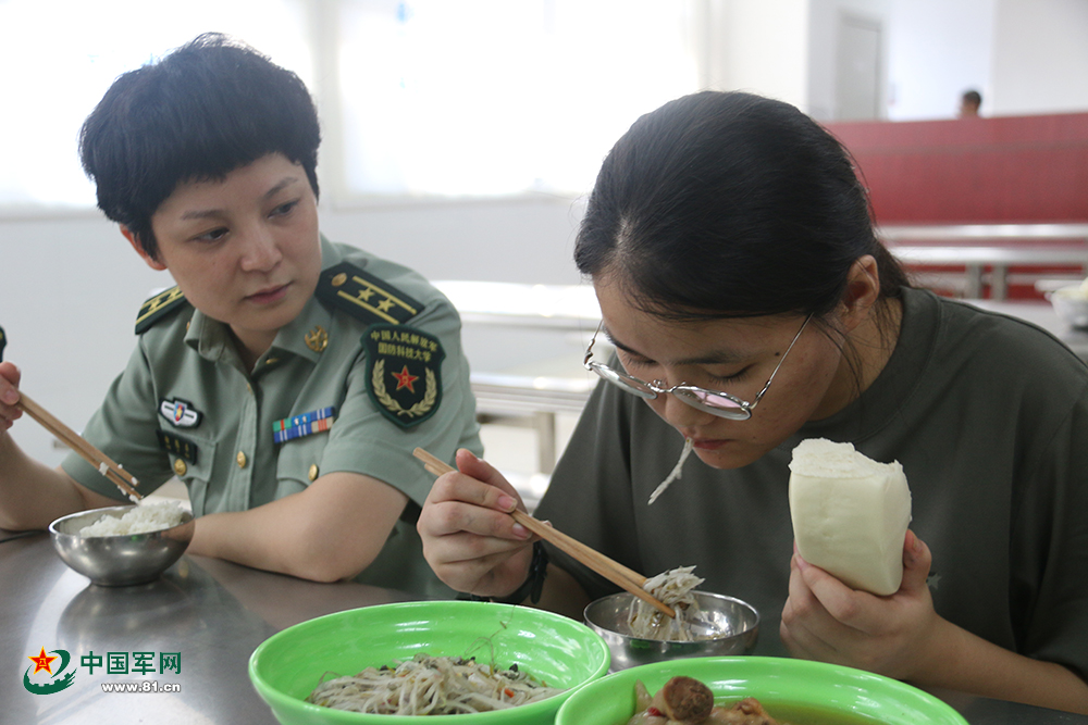
{"label": "dark sleeve patch with red star and gold wreath", "polygon": [[403,428],[434,415],[442,402],[438,338],[415,327],[371,325],[362,336],[367,350],[367,390],[378,410]]}

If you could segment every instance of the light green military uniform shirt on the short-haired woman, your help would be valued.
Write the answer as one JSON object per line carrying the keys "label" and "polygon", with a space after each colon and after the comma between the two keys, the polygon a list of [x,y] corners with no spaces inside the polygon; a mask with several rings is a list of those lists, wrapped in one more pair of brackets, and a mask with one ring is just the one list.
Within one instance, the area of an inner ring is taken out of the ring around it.
{"label": "light green military uniform shirt on the short-haired woman", "polygon": [[[418,357],[424,350],[419,333],[433,352],[441,348],[441,365],[429,367],[435,373],[433,386],[422,372],[419,379],[400,378],[412,389],[433,393],[425,403],[419,401],[418,410],[429,414],[425,420],[399,425],[388,411],[383,413],[379,396],[368,388],[371,352],[363,335],[375,322],[385,329],[393,326],[314,297],[279,332],[251,372],[244,368],[222,323],[187,303],[178,305],[140,334],[127,368],[113,382],[84,436],[124,465],[140,482],[143,495],[176,475],[197,516],[259,507],[305,490],[333,472],[385,482],[410,502],[378,559],[357,580],[453,597],[422,557],[415,520],[434,476],[412,450],[419,446],[447,461],[459,447],[482,452],[460,318],[449,301],[411,270],[324,238],[321,249],[323,270],[349,262],[378,280],[384,291],[370,296],[374,305],[384,292],[411,301],[417,314],[396,327],[417,334],[417,345],[407,347]],[[371,288],[360,289],[367,293]],[[385,400],[397,385],[393,375],[399,367],[386,371],[390,386],[379,391]],[[316,418],[308,435],[275,440],[279,422],[321,411],[333,420],[327,429]],[[84,486],[123,498],[82,458],[69,455],[63,466]]]}

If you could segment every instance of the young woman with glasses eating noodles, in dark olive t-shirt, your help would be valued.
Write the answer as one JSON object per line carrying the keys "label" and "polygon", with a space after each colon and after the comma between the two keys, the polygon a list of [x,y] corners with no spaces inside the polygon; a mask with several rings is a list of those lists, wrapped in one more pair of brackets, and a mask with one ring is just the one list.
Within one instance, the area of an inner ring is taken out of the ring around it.
{"label": "young woman with glasses eating noodles, in dark olive t-shirt", "polygon": [[[1088,712],[1088,371],[1031,325],[912,288],[832,136],[745,93],[667,103],[605,160],[574,259],[605,382],[537,517],[647,575],[695,565],[700,589],[759,611],[757,653]],[[902,463],[894,595],[794,553],[806,438]],[[685,441],[700,460],[651,504]],[[419,518],[428,561],[522,601],[543,547],[493,467],[457,462]],[[546,573],[539,605],[573,617],[616,590],[556,551]]]}

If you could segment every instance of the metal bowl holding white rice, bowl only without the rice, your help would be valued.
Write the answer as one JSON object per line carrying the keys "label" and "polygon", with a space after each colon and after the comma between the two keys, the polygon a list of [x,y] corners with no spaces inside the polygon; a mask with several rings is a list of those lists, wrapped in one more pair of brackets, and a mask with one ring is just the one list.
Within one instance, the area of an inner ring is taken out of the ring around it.
{"label": "metal bowl holding white rice, bowl only without the rice", "polygon": [[79,536],[79,529],[104,515],[123,516],[133,507],[107,507],[62,516],[49,524],[57,553],[94,584],[123,587],[159,578],[181,559],[193,540],[196,523],[188,511],[172,528],[124,536]]}

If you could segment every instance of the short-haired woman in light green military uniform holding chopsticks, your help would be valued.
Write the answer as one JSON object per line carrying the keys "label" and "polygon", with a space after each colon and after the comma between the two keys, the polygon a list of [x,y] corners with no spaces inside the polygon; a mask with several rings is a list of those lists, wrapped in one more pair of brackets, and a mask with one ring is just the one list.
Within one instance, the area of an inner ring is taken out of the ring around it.
{"label": "short-haired woman in light green military uniform holding chopsticks", "polygon": [[[84,168],[175,286],[135,315],[136,349],[83,435],[145,496],[184,482],[190,553],[452,596],[421,554],[432,476],[411,452],[482,452],[460,320],[419,274],[321,235],[319,142],[302,82],[222,35],[113,83],[84,124]],[[124,501],[74,453],[52,470],[20,450],[20,377],[0,363],[0,526]]]}

